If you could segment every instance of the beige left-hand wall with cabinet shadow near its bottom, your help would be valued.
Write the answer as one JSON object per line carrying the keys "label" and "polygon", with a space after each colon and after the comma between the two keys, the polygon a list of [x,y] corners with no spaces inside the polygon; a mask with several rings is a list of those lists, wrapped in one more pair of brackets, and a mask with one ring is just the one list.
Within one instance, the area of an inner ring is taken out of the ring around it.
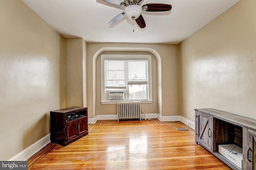
{"label": "beige left-hand wall with cabinet shadow near its bottom", "polygon": [[64,38],[21,0],[0,0],[0,160],[50,133],[65,106]]}

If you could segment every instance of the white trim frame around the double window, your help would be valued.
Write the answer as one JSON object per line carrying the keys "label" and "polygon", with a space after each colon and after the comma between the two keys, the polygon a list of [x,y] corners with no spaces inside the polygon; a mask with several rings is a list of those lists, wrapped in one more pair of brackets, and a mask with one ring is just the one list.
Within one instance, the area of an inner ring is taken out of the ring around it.
{"label": "white trim frame around the double window", "polygon": [[[141,100],[143,103],[152,103],[152,63],[151,63],[151,55],[101,55],[101,103],[102,104],[116,104],[118,101],[106,101],[105,94],[105,68],[104,61],[106,59],[135,59],[135,60],[148,60],[148,99]],[[124,100],[121,100],[124,101]],[[132,100],[125,100],[132,101]]]}

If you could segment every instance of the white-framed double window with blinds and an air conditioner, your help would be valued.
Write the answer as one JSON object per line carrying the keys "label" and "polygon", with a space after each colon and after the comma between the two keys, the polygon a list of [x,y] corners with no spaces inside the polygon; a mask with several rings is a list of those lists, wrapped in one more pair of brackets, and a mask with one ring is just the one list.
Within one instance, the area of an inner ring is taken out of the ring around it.
{"label": "white-framed double window with blinds and an air conditioner", "polygon": [[101,55],[102,102],[152,101],[151,55]]}

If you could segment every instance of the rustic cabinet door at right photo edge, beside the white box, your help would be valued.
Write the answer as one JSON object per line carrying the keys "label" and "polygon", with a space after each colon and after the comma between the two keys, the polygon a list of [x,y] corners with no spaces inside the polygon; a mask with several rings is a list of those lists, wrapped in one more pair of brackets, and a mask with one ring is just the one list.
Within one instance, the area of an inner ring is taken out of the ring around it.
{"label": "rustic cabinet door at right photo edge, beside the white box", "polygon": [[[247,129],[246,166],[247,170],[256,170],[256,132]],[[245,168],[246,169],[246,168]]]}

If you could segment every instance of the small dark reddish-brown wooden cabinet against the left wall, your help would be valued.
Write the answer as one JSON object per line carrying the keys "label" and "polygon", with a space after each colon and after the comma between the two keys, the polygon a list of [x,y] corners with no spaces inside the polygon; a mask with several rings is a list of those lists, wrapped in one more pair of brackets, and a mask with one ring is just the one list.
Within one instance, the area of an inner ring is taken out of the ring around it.
{"label": "small dark reddish-brown wooden cabinet against the left wall", "polygon": [[87,107],[50,111],[51,142],[66,146],[88,135]]}

